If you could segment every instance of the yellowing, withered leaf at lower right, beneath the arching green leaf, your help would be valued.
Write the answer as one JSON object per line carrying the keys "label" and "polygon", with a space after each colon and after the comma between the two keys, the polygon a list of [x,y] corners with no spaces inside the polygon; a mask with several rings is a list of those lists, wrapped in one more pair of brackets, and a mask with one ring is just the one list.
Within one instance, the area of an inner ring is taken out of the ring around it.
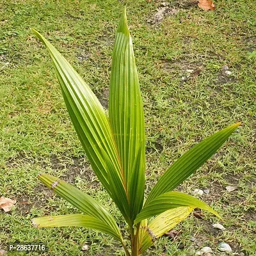
{"label": "yellowing, withered leaf at lower right, beneath the arching green leaf", "polygon": [[185,220],[193,209],[193,207],[187,206],[170,209],[159,214],[148,226],[141,225],[143,233],[140,243],[140,253],[145,252],[145,250],[152,246],[158,237],[163,236],[163,234],[174,228],[180,221]]}

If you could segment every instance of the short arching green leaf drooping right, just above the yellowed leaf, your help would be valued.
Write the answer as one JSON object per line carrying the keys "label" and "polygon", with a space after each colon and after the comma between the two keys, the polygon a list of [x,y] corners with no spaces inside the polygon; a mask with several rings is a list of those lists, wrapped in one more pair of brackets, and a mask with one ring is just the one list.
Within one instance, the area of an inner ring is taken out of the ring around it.
{"label": "short arching green leaf drooping right, just above the yellowed leaf", "polygon": [[134,225],[139,223],[141,220],[156,216],[162,212],[169,209],[177,208],[180,206],[189,206],[194,208],[201,208],[205,211],[209,211],[212,214],[221,218],[218,212],[214,211],[209,205],[200,201],[199,199],[186,195],[180,192],[167,192],[160,196],[157,196],[151,200],[138,214],[136,220],[134,220]]}

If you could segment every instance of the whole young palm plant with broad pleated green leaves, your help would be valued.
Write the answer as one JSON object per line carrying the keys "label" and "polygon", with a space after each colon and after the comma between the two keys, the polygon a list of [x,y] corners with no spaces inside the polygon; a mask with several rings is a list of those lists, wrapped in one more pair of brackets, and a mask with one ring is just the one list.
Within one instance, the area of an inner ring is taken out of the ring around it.
{"label": "whole young palm plant with broad pleated green leaves", "polygon": [[[83,214],[35,218],[36,227],[94,228],[120,241],[127,256],[137,256],[152,246],[157,237],[184,220],[195,207],[220,217],[204,202],[173,189],[204,164],[240,123],[216,132],[188,150],[166,170],[144,200],[143,104],[125,11],[113,51],[109,116],[60,52],[35,29],[32,31],[50,52],[72,123],[93,171],[129,226],[131,248],[127,247],[115,219],[102,204],[67,182],[43,173],[38,175],[39,179]],[[148,218],[153,216],[156,218],[148,223]]]}

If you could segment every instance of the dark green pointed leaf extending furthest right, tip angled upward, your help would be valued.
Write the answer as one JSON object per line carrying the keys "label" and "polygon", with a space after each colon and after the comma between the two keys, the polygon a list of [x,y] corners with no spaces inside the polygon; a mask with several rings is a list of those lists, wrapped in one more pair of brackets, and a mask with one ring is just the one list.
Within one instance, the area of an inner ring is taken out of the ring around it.
{"label": "dark green pointed leaf extending furthest right, tip angled upward", "polygon": [[241,123],[216,132],[211,137],[201,141],[181,156],[158,180],[156,186],[150,191],[145,205],[150,204],[157,196],[172,191],[186,180],[196,169],[207,161],[221,145],[228,139]]}

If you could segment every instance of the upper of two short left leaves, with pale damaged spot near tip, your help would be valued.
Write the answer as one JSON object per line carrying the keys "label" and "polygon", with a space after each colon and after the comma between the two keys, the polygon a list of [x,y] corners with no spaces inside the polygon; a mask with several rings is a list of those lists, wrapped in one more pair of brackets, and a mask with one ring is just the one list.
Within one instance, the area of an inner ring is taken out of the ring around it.
{"label": "upper of two short left leaves, with pale damaged spot near tip", "polygon": [[93,199],[92,196],[87,195],[74,186],[54,176],[43,173],[38,175],[38,177],[48,188],[52,189],[56,194],[74,205],[74,207],[79,209],[81,212],[97,219],[100,223],[104,223],[104,227],[108,227],[108,232],[105,232],[109,234],[109,230],[111,230],[112,236],[119,241],[122,241],[122,235],[114,218],[103,207],[103,205]]}

